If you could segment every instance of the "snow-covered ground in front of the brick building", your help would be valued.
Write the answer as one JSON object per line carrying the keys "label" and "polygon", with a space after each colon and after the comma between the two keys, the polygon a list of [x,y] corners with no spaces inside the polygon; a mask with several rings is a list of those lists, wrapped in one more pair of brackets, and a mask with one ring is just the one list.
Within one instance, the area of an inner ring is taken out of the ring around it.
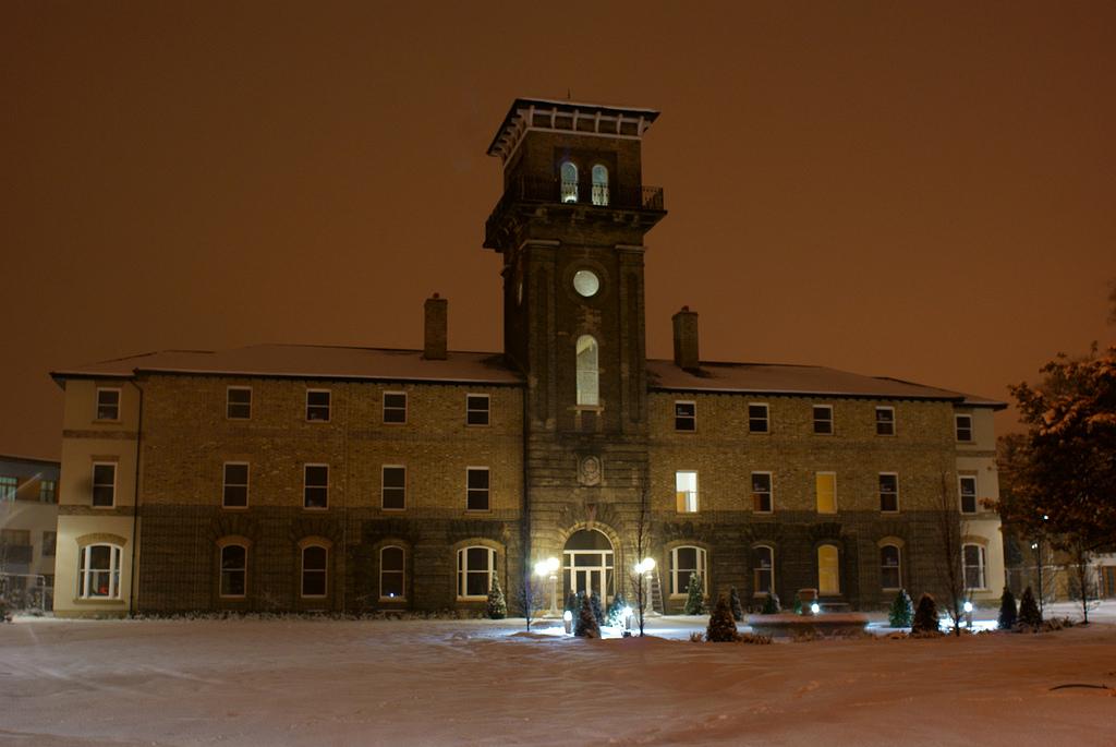
{"label": "snow-covered ground in front of the brick building", "polygon": [[0,625],[0,744],[1116,745],[1116,690],[1050,689],[1116,688],[1116,603],[1096,616],[771,645],[690,643],[704,620],[686,617],[596,641],[521,621],[23,619]]}

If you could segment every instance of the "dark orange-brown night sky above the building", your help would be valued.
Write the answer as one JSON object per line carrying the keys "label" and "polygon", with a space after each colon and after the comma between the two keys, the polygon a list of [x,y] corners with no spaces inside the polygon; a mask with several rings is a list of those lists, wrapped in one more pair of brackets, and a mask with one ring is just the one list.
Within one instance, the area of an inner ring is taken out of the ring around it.
{"label": "dark orange-brown night sky above the building", "polygon": [[1007,398],[1116,337],[1112,2],[0,16],[0,453],[59,454],[54,367],[420,347],[435,290],[451,347],[499,349],[484,150],[516,96],[663,112],[644,143],[670,211],[647,238],[652,356],[689,304],[705,360]]}

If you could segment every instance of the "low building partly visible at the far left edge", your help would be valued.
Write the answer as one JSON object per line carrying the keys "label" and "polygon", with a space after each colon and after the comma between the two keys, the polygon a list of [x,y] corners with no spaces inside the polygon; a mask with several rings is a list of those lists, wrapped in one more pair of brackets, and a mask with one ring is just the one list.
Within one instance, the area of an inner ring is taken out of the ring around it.
{"label": "low building partly visible at the far left edge", "polygon": [[58,528],[58,462],[0,454],[0,598],[50,610]]}

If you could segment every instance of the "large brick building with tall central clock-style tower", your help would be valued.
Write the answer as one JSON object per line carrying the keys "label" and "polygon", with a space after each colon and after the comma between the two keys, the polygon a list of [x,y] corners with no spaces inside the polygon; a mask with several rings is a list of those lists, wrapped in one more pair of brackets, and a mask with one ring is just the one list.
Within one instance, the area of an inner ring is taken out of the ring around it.
{"label": "large brick building with tall central clock-style tower", "polygon": [[448,351],[435,294],[422,349],[164,352],[54,373],[58,614],[475,612],[494,578],[514,600],[549,557],[559,593],[612,596],[642,554],[667,610],[695,573],[710,594],[817,587],[879,607],[940,587],[943,516],[963,529],[973,597],[998,597],[982,499],[998,495],[1002,404],[705,362],[686,308],[674,360],[647,360],[643,241],[666,212],[641,144],[656,117],[512,104],[489,146],[504,191],[484,239],[502,353]]}

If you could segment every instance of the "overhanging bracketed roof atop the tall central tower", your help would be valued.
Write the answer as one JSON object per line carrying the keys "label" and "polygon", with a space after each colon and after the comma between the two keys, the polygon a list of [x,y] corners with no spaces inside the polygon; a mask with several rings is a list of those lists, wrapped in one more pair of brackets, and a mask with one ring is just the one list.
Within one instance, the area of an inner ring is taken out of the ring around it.
{"label": "overhanging bracketed roof atop the tall central tower", "polygon": [[658,112],[655,109],[550,98],[517,98],[496,131],[488,154],[499,155],[507,161],[529,130],[639,140],[656,118]]}

